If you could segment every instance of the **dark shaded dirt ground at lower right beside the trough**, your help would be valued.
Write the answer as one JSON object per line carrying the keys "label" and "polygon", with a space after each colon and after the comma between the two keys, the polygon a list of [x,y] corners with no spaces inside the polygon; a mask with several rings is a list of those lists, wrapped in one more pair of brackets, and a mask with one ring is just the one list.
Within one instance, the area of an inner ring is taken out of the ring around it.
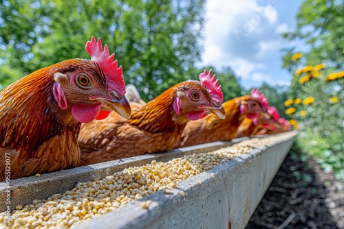
{"label": "dark shaded dirt ground at lower right beside the trough", "polygon": [[344,183],[292,152],[246,228],[344,228]]}

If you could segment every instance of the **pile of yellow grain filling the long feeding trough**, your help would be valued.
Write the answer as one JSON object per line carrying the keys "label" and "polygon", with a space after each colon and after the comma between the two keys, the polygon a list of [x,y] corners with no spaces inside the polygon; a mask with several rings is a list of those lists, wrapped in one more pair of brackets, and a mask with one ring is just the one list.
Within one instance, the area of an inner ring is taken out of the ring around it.
{"label": "pile of yellow grain filling the long feeding trough", "polygon": [[[55,194],[47,200],[34,200],[32,204],[17,206],[12,212],[10,225],[0,213],[1,228],[70,228],[74,224],[93,219],[108,211],[120,208],[133,200],[140,200],[159,190],[173,193],[178,182],[200,174],[229,160],[246,154],[251,149],[270,145],[290,138],[290,133],[252,138],[230,147],[202,154],[191,154],[174,158],[168,162],[153,160],[141,167],[130,167],[107,176],[102,180],[80,182],[74,189],[63,194]],[[215,178],[215,174],[211,173]],[[202,184],[201,180],[197,180]],[[180,191],[180,196],[186,193]],[[151,200],[142,202],[148,208]]]}

